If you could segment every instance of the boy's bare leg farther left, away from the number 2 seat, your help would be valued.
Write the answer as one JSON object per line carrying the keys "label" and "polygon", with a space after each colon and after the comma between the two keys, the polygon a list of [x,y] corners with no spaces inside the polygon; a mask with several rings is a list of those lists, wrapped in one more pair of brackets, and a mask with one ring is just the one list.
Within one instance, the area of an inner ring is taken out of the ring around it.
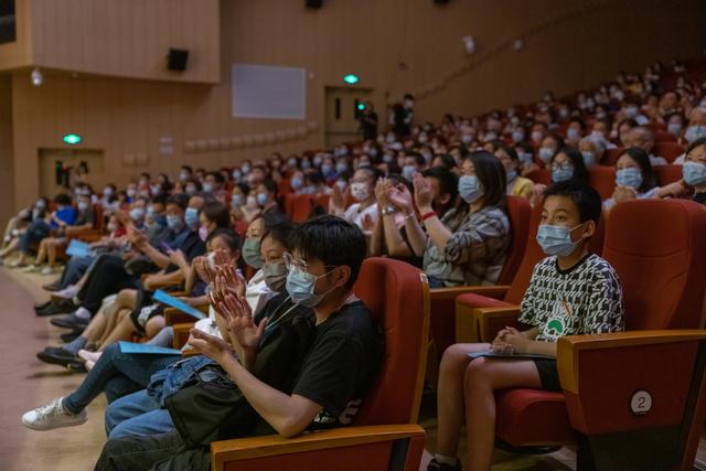
{"label": "boy's bare leg farther left, away from the number 2 seat", "polygon": [[463,377],[471,361],[468,354],[484,352],[489,347],[488,343],[457,343],[443,352],[437,390],[438,454],[449,458],[457,454],[464,410]]}

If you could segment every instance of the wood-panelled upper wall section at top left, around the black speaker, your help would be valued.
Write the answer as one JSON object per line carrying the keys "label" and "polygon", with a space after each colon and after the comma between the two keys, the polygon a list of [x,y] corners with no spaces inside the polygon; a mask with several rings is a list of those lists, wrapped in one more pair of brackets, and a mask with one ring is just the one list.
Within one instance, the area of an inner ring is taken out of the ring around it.
{"label": "wood-panelled upper wall section at top left, around the black speaker", "polygon": [[[30,1],[30,0],[25,0]],[[174,82],[220,81],[218,0],[31,0],[35,65]],[[186,49],[183,73],[169,47]]]}

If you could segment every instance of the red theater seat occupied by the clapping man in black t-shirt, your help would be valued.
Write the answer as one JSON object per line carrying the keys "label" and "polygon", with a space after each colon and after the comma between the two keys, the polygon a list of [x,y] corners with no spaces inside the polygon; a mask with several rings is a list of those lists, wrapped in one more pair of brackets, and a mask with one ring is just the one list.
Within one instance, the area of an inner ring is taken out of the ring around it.
{"label": "red theater seat occupied by the clapping man in black t-shirt", "polygon": [[[291,439],[270,436],[214,442],[213,470],[419,468],[424,430],[416,421],[429,329],[426,277],[403,261],[368,258],[354,291],[385,333],[382,370],[356,426]],[[322,463],[329,464],[322,468]]]}

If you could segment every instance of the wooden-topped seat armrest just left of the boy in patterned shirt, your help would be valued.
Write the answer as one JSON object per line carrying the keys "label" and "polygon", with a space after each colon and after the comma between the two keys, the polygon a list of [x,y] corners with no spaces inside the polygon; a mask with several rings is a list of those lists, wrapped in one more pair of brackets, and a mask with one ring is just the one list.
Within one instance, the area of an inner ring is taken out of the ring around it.
{"label": "wooden-topped seat armrest just left of the boy in patterned shirt", "polygon": [[518,306],[473,308],[466,303],[456,304],[457,343],[492,342],[505,327],[517,327]]}

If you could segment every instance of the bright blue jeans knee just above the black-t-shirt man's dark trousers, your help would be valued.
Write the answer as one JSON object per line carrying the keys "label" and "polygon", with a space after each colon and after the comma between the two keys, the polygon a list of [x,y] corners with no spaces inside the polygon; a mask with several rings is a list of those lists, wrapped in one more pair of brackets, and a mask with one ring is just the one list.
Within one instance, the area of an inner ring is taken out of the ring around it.
{"label": "bright blue jeans knee just above the black-t-shirt man's dark trousers", "polygon": [[160,409],[159,403],[147,394],[147,389],[110,403],[106,410],[106,435],[109,440],[171,431],[175,431],[175,428],[169,411]]}

